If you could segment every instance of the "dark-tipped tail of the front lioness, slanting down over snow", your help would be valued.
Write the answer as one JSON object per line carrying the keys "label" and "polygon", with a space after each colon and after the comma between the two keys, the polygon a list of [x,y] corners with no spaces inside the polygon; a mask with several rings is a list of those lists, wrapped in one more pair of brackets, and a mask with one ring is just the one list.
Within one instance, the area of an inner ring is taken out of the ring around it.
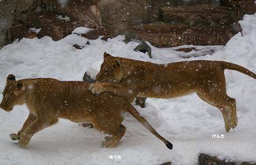
{"label": "dark-tipped tail of the front lioness, slanting down over snow", "polygon": [[155,131],[155,129],[149,124],[149,122],[146,121],[144,117],[141,116],[141,114],[129,103],[126,104],[126,110],[129,112],[134,118],[137,119],[144,127],[149,129],[149,131],[154,134],[157,138],[159,138],[161,141],[163,141],[167,148],[173,149],[173,144],[171,144],[169,141],[167,141],[165,138],[161,137],[159,133]]}

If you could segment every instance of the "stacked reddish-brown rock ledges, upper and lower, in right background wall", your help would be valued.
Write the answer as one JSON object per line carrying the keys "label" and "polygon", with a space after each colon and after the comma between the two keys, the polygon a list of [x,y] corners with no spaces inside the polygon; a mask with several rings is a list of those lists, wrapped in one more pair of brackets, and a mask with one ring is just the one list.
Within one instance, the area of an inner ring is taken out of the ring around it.
{"label": "stacked reddish-brown rock ledges, upper and lower, in right background wall", "polygon": [[163,21],[130,29],[156,47],[225,45],[241,30],[233,24],[239,20],[238,8],[207,4],[163,7],[161,13]]}

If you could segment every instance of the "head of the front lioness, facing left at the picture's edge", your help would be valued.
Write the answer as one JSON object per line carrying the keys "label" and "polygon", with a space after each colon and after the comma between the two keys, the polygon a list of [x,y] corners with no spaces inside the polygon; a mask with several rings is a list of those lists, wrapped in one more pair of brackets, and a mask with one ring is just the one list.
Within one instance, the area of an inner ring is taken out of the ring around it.
{"label": "head of the front lioness, facing left at the picture's edge", "polygon": [[7,77],[6,87],[2,93],[3,100],[0,104],[0,108],[4,111],[12,111],[14,106],[23,104],[23,92],[23,83],[21,81],[16,81],[15,76],[9,74]]}

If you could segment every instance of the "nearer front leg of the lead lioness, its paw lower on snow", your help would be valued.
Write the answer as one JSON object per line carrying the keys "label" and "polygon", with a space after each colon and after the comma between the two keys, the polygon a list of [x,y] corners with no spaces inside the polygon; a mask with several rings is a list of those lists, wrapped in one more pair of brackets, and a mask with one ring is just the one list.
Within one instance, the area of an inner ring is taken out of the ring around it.
{"label": "nearer front leg of the lead lioness, its paw lower on snow", "polygon": [[27,127],[26,131],[21,133],[21,135],[19,136],[19,146],[27,146],[35,133],[41,131],[42,129],[50,127],[57,122],[57,117],[45,117],[45,115],[38,116],[35,121]]}

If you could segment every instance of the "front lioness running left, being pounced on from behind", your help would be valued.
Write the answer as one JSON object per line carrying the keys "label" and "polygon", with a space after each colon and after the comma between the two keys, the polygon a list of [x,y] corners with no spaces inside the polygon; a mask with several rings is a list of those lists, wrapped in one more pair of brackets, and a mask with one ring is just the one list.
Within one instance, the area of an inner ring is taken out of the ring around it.
{"label": "front lioness running left, being pounced on from behind", "polygon": [[[129,112],[169,149],[173,145],[161,137],[144,117],[124,98],[112,93],[99,96],[88,90],[88,83],[58,81],[52,78],[21,79],[10,74],[3,91],[0,107],[11,111],[14,106],[26,103],[29,116],[21,131],[10,134],[20,146],[27,146],[32,136],[58,122],[58,118],[72,122],[92,123],[93,127],[106,136],[102,147],[115,147],[124,136],[126,128],[121,123],[125,112]],[[112,137],[111,137],[112,136]]]}

